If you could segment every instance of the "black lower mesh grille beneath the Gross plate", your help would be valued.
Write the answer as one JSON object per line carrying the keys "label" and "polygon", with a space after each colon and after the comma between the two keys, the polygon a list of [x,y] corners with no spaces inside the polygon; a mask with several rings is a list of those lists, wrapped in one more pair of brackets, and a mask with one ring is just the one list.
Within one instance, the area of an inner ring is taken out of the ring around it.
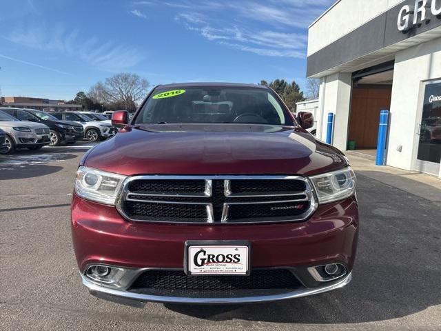
{"label": "black lower mesh grille beneath the Gross plate", "polygon": [[286,269],[252,270],[249,276],[187,276],[178,270],[150,270],[141,274],[130,290],[267,290],[299,286],[296,276]]}

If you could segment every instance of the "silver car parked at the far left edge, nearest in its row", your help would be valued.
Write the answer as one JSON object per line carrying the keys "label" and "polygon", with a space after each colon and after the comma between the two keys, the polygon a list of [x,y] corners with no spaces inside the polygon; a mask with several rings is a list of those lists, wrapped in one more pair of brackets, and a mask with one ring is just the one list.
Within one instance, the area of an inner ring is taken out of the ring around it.
{"label": "silver car parked at the far left edge, nearest in its row", "polygon": [[16,148],[38,150],[50,143],[50,130],[41,123],[19,121],[6,112],[0,111],[0,129],[5,134],[6,154]]}

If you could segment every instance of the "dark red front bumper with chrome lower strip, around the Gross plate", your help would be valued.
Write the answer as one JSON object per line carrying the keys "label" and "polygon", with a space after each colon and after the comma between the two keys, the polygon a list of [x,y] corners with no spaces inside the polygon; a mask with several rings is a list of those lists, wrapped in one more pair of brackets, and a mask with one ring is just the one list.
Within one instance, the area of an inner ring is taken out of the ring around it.
{"label": "dark red front bumper with chrome lower strip, around the Gross plate", "polygon": [[[72,240],[83,284],[92,294],[116,296],[136,301],[175,303],[252,303],[305,297],[341,288],[351,280],[351,270],[358,240],[358,204],[355,197],[319,205],[313,216],[297,223],[248,225],[182,225],[129,222],[116,208],[72,200]],[[260,268],[291,270],[301,285],[276,294],[237,297],[175,296],[136,293],[126,288],[112,288],[85,276],[94,263],[134,270],[183,270],[184,245],[187,240],[246,240],[252,245],[252,272]],[[320,283],[307,269],[327,263],[341,263],[344,277]],[[106,299],[106,298],[103,298]]]}

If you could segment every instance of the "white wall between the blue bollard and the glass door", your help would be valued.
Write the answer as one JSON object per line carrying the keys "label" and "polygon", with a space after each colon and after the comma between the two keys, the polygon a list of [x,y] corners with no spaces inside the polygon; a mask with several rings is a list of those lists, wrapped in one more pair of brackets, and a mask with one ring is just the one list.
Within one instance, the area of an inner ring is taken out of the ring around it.
{"label": "white wall between the blue bollard and the glass door", "polygon": [[415,160],[424,97],[422,82],[429,79],[441,79],[441,39],[396,54],[387,165],[418,170]]}

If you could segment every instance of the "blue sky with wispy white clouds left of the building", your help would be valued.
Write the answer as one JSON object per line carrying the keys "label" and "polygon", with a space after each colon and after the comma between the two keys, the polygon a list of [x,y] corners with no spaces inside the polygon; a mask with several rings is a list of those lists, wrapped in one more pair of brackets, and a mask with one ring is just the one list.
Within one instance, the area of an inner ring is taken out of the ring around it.
{"label": "blue sky with wispy white clouds left of the building", "polygon": [[14,0],[1,5],[3,96],[73,99],[116,72],[305,86],[307,26],[333,0]]}

